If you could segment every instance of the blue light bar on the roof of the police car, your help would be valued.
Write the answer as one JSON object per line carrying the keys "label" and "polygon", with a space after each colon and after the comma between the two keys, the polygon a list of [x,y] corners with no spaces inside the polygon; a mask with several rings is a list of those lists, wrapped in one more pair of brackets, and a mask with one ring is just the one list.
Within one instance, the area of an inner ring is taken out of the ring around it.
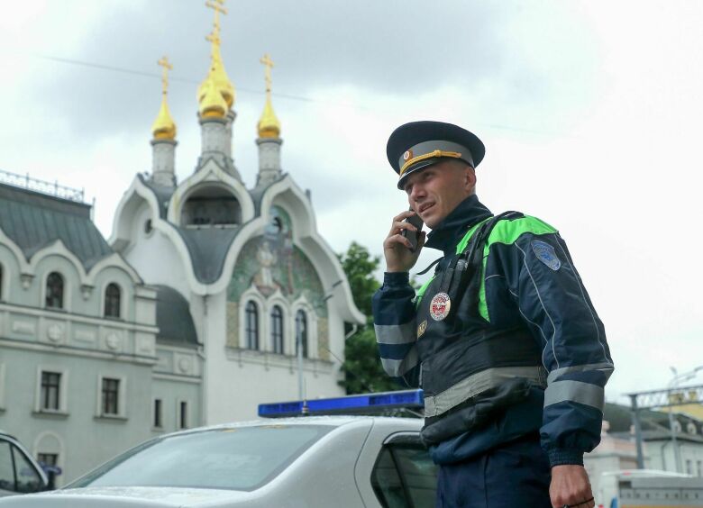
{"label": "blue light bar on the roof of the police car", "polygon": [[283,418],[305,414],[311,416],[320,414],[379,414],[391,409],[422,410],[424,407],[422,390],[402,390],[309,401],[259,404],[259,416]]}

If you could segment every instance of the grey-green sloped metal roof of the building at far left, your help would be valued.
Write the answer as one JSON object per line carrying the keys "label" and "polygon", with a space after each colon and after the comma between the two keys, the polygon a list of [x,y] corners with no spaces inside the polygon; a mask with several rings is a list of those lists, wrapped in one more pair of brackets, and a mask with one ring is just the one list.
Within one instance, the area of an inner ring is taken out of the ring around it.
{"label": "grey-green sloped metal roof of the building at far left", "polygon": [[89,204],[21,187],[0,184],[0,229],[32,255],[56,240],[61,240],[90,269],[113,253],[105,238],[90,220]]}

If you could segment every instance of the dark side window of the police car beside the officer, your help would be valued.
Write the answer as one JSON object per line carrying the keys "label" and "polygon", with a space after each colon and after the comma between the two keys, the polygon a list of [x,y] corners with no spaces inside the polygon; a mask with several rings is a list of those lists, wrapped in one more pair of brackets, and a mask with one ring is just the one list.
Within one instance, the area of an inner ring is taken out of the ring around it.
{"label": "dark side window of the police car beside the officer", "polygon": [[373,467],[371,485],[387,508],[434,506],[437,467],[419,442],[389,445]]}

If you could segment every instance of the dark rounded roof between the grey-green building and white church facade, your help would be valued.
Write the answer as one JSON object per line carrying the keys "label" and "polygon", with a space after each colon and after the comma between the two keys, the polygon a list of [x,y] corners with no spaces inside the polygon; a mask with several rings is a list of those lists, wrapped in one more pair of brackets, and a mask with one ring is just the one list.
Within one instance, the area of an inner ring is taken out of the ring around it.
{"label": "dark rounded roof between the grey-green building and white church facade", "polygon": [[196,347],[196,326],[186,298],[169,286],[156,288],[156,325],[158,343]]}

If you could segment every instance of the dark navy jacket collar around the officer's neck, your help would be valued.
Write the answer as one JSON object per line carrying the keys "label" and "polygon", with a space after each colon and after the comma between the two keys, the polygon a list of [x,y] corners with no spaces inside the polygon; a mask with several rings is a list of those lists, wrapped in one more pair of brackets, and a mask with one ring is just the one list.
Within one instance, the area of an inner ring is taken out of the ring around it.
{"label": "dark navy jacket collar around the officer's neck", "polygon": [[445,256],[451,256],[466,231],[491,215],[493,213],[479,202],[476,195],[470,195],[427,235],[425,247],[442,250]]}

